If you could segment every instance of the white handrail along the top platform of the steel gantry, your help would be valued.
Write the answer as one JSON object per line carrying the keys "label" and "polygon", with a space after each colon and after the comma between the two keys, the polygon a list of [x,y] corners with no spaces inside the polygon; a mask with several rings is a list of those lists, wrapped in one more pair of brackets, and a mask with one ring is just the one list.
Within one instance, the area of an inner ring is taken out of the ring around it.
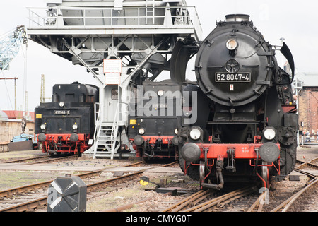
{"label": "white handrail along the top platform of the steel gantry", "polygon": [[[131,25],[131,23],[136,23],[136,22],[137,23],[134,25],[146,25],[146,26],[165,25],[164,21],[159,22],[156,20],[154,24],[149,24],[149,23],[146,23],[146,21],[144,20],[146,20],[147,18],[164,19],[165,13],[163,13],[163,10],[171,11],[172,9],[177,10],[182,8],[182,9],[187,9],[186,15],[172,15],[172,18],[176,19],[173,25],[196,25],[196,26],[199,26],[199,28],[202,30],[201,23],[199,21],[199,16],[195,6],[179,6],[179,7],[155,6],[153,7],[154,8],[153,16],[146,15],[146,8],[149,8],[149,7],[146,7],[146,6],[124,7],[124,8],[121,8],[122,10],[116,10],[115,8],[111,8],[111,7],[84,8],[84,7],[61,7],[61,6],[49,7],[49,8],[44,8],[44,7],[34,8],[33,7],[33,8],[27,8],[27,9],[29,11],[29,17],[28,17],[28,19],[30,20],[29,25],[30,27],[33,27],[33,26],[36,27],[36,26],[55,25],[59,17],[63,18],[64,21],[66,19],[76,19],[77,22],[78,20],[83,20],[83,24],[81,25],[84,25],[84,26],[90,25],[89,23],[95,23],[94,25],[101,25],[101,24],[97,24],[96,22],[97,19],[103,20],[102,23],[105,23],[103,25],[107,25],[107,26],[126,25],[126,24],[120,24],[121,19],[124,19],[125,23],[126,23],[126,19],[134,19],[134,21],[130,20],[127,25]],[[125,12],[125,10],[129,10],[129,13],[134,13],[134,14],[130,16],[122,15],[124,14],[122,12]],[[134,10],[136,11],[134,12]],[[163,15],[158,15],[159,10],[161,10],[161,14]],[[40,12],[37,13],[35,11],[42,11],[42,13]],[[114,13],[114,12],[118,12],[118,13]],[[73,13],[73,16],[66,15],[67,13]],[[98,13],[100,13],[101,16],[95,16]],[[103,14],[105,13],[107,13],[107,15],[104,16]],[[42,14],[42,16],[40,14]],[[92,21],[89,21],[89,20],[92,20]],[[114,20],[117,20],[115,24],[114,24]],[[74,25],[74,26],[78,26],[78,25]]]}

